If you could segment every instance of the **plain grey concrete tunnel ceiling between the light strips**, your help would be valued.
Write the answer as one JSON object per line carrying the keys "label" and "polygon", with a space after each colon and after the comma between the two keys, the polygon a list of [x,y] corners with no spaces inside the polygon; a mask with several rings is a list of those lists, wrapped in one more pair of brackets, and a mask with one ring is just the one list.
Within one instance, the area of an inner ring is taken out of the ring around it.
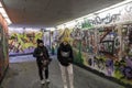
{"label": "plain grey concrete tunnel ceiling between the light strips", "polygon": [[11,26],[55,26],[123,0],[2,0]]}

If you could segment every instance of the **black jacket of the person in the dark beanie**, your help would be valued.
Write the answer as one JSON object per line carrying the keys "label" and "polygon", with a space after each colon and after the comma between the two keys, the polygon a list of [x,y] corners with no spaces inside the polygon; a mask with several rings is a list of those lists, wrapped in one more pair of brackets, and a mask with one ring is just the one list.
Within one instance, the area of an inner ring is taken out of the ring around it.
{"label": "black jacket of the person in the dark beanie", "polygon": [[[40,56],[41,53],[43,53],[43,56]],[[48,51],[47,51],[47,48],[45,46],[42,46],[42,47],[37,46],[34,50],[33,56],[36,57],[37,62],[50,58]]]}

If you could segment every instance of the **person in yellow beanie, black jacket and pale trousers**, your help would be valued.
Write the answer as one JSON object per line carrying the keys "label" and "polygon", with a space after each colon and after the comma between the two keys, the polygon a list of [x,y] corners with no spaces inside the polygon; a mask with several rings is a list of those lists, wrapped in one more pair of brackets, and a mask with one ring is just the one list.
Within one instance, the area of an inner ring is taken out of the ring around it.
{"label": "person in yellow beanie, black jacket and pale trousers", "polygon": [[[61,70],[62,70],[62,78],[64,81],[64,88],[68,88],[68,81],[66,80],[66,77],[68,76],[69,79],[69,86],[70,88],[74,88],[74,75],[73,75],[73,48],[70,44],[68,43],[68,37],[65,37],[63,40],[63,43],[61,43],[58,50],[57,50],[57,58],[61,63]],[[66,73],[68,72],[68,73]]]}

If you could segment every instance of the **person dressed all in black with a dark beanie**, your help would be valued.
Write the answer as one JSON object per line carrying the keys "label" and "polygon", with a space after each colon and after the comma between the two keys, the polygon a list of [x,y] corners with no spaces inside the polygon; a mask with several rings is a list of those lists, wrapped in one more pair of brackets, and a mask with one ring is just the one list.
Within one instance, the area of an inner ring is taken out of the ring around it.
{"label": "person dressed all in black with a dark beanie", "polygon": [[48,51],[44,46],[42,40],[37,40],[37,47],[34,50],[33,56],[36,57],[41,84],[45,84],[45,80],[43,78],[43,69],[45,69],[45,79],[47,82],[50,82],[50,80],[48,80],[48,58],[50,58],[50,55],[48,55]]}

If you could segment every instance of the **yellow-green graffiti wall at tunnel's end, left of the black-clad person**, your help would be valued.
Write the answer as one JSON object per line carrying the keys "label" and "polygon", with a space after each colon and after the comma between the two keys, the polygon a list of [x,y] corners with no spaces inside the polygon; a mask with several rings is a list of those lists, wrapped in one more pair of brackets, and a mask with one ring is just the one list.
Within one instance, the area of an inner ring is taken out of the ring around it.
{"label": "yellow-green graffiti wall at tunnel's end, left of the black-clad person", "polygon": [[9,55],[22,55],[33,53],[36,40],[42,38],[43,33],[34,29],[9,29]]}

